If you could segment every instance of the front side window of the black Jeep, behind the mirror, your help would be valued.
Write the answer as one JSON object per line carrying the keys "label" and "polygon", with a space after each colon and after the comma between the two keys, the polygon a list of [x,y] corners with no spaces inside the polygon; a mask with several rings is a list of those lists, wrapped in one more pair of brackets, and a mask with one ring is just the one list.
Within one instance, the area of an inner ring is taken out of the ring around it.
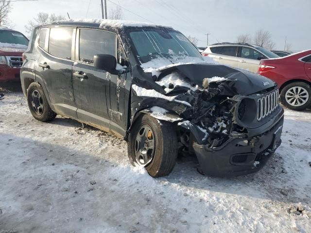
{"label": "front side window of the black Jeep, behind the mirror", "polygon": [[116,39],[115,33],[80,29],[79,60],[93,64],[95,54],[109,54],[116,57]]}

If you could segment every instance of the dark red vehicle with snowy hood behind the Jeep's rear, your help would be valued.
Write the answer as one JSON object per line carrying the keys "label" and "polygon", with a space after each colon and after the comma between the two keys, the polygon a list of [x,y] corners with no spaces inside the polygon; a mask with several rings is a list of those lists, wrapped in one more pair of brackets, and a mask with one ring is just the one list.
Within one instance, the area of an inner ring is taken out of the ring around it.
{"label": "dark red vehicle with snowy hood behind the Jeep's rear", "polygon": [[0,27],[0,82],[20,81],[22,53],[27,49],[28,42],[22,33]]}

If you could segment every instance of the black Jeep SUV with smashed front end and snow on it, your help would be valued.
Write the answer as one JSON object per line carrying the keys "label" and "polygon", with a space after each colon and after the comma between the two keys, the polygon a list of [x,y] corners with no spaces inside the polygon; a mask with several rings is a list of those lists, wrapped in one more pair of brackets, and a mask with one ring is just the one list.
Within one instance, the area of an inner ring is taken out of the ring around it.
{"label": "black Jeep SUV with smashed front end and snow on it", "polygon": [[34,29],[23,58],[37,120],[59,114],[124,138],[131,163],[153,177],[178,154],[195,154],[207,175],[252,173],[281,143],[276,83],[203,58],[170,27],[53,22]]}

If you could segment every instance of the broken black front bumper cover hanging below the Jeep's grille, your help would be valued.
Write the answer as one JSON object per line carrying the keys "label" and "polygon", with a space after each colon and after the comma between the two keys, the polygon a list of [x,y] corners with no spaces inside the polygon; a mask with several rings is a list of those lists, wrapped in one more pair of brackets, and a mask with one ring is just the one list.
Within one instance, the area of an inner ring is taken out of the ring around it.
{"label": "broken black front bumper cover hanging below the Jeep's grille", "polygon": [[259,171],[281,144],[284,110],[266,131],[250,138],[230,138],[222,146],[208,148],[193,144],[201,169],[206,175],[232,177]]}

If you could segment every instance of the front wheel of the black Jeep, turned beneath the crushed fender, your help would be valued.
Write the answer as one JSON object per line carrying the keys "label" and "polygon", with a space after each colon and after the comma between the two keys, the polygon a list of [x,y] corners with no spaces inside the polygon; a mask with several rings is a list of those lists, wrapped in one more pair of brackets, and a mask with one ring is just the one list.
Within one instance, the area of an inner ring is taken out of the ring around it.
{"label": "front wheel of the black Jeep, turned beneath the crushed fender", "polygon": [[[153,136],[147,136],[146,140],[144,140],[144,136],[149,135],[150,130]],[[142,143],[139,142],[141,137]],[[150,138],[153,138],[154,144]],[[148,148],[149,146],[152,148],[152,145],[154,145],[154,150],[147,150],[144,153],[144,158],[148,157],[146,161],[140,156],[142,153],[137,150],[143,150],[139,143],[144,145],[147,143]],[[159,121],[149,115],[142,115],[136,120],[129,134],[127,149],[128,157],[133,166],[145,166],[152,177],[166,176],[171,173],[176,163],[178,153],[177,134],[171,123]]]}

